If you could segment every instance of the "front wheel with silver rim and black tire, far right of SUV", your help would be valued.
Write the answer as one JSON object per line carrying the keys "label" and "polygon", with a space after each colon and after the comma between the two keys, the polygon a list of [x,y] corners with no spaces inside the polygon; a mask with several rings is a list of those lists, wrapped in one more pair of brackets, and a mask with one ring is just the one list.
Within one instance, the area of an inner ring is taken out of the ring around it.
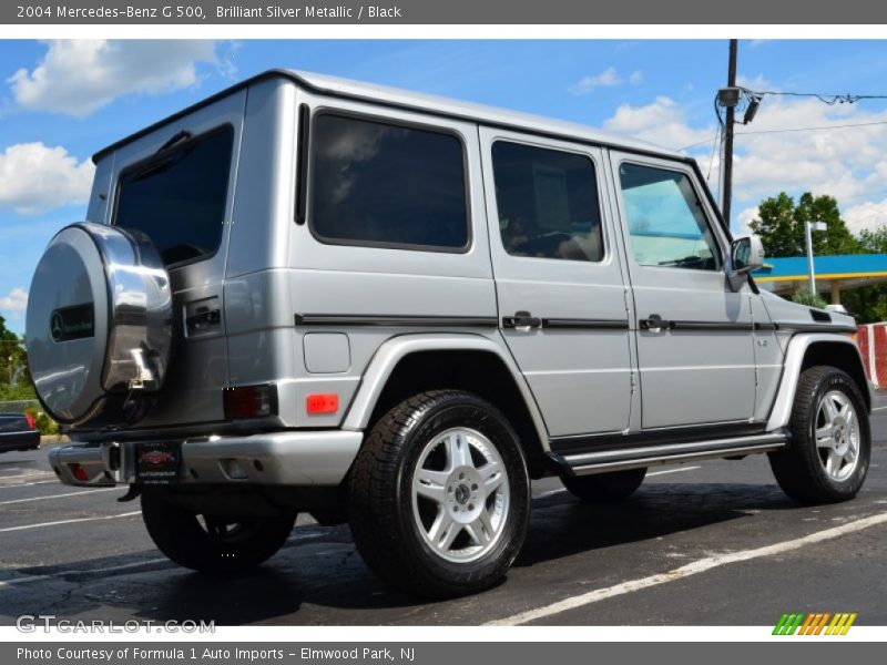
{"label": "front wheel with silver rim and black tire, far right of SUV", "polygon": [[802,503],[853,499],[863,487],[871,456],[868,410],[854,380],[834,367],[805,370],[789,429],[788,447],[769,453],[783,491]]}

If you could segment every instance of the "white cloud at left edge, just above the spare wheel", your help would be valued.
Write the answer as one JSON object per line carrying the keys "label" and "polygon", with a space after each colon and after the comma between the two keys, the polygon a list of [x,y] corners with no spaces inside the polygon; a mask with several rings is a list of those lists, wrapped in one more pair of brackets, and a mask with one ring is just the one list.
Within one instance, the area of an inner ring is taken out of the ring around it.
{"label": "white cloud at left edge, just above the spare wheel", "polygon": [[89,200],[92,162],[77,158],[62,146],[19,143],[0,153],[0,209],[21,215],[44,213]]}

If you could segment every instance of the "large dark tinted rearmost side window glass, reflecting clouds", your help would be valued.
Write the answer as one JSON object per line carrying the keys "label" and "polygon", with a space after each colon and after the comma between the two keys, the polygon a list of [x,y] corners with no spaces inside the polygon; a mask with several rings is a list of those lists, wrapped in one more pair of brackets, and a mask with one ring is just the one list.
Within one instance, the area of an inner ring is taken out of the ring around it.
{"label": "large dark tinted rearmost side window glass, reflecting clouds", "polygon": [[322,113],[310,150],[309,223],[322,242],[468,247],[465,156],[452,134]]}

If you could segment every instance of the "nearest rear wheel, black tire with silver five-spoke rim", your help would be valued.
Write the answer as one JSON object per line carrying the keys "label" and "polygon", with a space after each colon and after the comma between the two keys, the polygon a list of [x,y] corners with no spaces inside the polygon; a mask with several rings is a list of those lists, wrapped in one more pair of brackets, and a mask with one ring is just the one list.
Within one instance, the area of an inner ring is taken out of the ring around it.
{"label": "nearest rear wheel, black tire with silver five-spoke rim", "polygon": [[425,597],[489,589],[527,534],[530,480],[518,437],[475,395],[417,395],[370,431],[349,508],[357,550],[392,586]]}

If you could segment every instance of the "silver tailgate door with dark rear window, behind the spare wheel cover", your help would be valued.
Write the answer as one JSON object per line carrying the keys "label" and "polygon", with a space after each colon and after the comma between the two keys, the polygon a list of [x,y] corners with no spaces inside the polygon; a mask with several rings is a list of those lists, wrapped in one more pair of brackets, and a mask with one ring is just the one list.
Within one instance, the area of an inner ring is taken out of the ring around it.
{"label": "silver tailgate door with dark rear window, behind the spare wheel cover", "polygon": [[223,282],[246,91],[121,147],[106,222],[146,233],[170,275],[173,361],[140,428],[223,419]]}

